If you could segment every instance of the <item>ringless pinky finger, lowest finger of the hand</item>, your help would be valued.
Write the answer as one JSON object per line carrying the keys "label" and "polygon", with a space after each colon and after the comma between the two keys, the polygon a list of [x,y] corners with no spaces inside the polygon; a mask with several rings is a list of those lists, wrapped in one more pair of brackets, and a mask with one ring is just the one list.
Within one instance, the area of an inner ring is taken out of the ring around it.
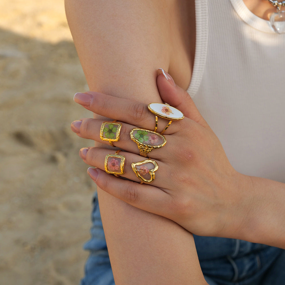
{"label": "ringless pinky finger, lowest finger of the hand", "polygon": [[87,173],[99,188],[112,196],[144,211],[168,218],[172,198],[160,188],[123,180],[99,168],[89,167]]}

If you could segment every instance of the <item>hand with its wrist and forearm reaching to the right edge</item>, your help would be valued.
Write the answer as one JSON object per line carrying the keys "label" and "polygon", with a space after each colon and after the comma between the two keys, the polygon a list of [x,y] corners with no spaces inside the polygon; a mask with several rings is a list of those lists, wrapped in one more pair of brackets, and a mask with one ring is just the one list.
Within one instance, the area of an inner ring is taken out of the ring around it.
{"label": "hand with its wrist and forearm reaching to the right edge", "polygon": [[[102,148],[80,150],[82,159],[98,168],[89,169],[90,177],[109,194],[145,211],[172,219],[197,235],[237,238],[285,248],[285,227],[282,226],[285,184],[236,172],[218,138],[186,91],[172,86],[161,75],[158,89],[162,89],[162,98],[165,87],[169,87],[166,88],[166,102],[172,100],[175,103],[175,98],[176,104],[172,105],[180,107],[185,118],[167,129],[165,146],[148,154],[159,165],[151,186],[100,171],[104,170],[104,158],[110,153]],[[78,100],[80,96],[75,96],[78,103],[82,103]],[[114,145],[125,150],[120,153],[126,157],[123,176],[139,182],[131,169],[131,162],[143,159],[138,155],[138,148],[130,140],[129,133],[134,127],[152,129],[153,114],[146,104],[139,102],[119,100],[96,92],[89,92],[89,96],[90,102],[85,108],[106,116],[112,112],[112,119],[124,122],[120,140]],[[102,104],[109,108],[102,108]],[[125,111],[113,111],[115,106]],[[102,122],[84,119],[80,128],[75,129],[72,125],[72,129],[81,137],[99,141]]]}

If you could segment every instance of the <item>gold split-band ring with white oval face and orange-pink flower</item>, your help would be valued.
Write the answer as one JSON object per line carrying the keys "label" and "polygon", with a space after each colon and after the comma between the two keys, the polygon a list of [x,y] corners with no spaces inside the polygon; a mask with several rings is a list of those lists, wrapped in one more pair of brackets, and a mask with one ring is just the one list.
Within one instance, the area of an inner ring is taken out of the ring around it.
{"label": "gold split-band ring with white oval face and orange-pink flower", "polygon": [[172,123],[173,120],[182,120],[184,118],[184,115],[181,111],[179,111],[178,109],[176,109],[174,107],[166,105],[166,104],[150,103],[150,104],[148,104],[147,107],[148,107],[148,110],[150,110],[150,112],[154,113],[154,115],[155,115],[154,131],[156,131],[156,129],[157,129],[158,117],[161,117],[164,119],[170,119],[167,126],[160,133],[161,135],[168,129],[168,127],[170,126],[170,124]]}

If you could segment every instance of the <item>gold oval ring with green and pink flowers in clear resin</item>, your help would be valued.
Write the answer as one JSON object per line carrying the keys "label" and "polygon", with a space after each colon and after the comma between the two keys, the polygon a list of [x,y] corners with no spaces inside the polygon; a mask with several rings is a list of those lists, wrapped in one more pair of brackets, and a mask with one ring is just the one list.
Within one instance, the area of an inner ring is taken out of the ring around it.
{"label": "gold oval ring with green and pink flowers in clear resin", "polygon": [[132,129],[130,136],[131,140],[138,145],[140,155],[144,157],[154,148],[160,148],[166,144],[166,139],[163,135],[146,129]]}

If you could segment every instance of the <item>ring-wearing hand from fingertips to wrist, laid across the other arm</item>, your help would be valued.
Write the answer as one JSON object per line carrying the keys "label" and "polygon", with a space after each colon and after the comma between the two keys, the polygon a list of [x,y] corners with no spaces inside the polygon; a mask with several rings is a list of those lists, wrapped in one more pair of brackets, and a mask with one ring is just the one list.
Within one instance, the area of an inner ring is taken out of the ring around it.
{"label": "ring-wearing hand from fingertips to wrist, laid across the other arm", "polygon": [[[115,153],[106,148],[83,148],[80,156],[97,186],[109,194],[145,211],[169,218],[197,235],[237,237],[246,215],[242,194],[238,191],[240,174],[229,163],[219,139],[200,115],[185,90],[171,85],[162,75],[157,78],[161,98],[180,109],[185,118],[173,121],[164,133],[167,143],[148,155],[159,166],[152,184],[140,182],[131,168],[132,162],[144,160],[137,144],[131,141],[135,128],[153,130],[155,115],[147,105],[127,99],[88,92],[75,96],[86,109],[122,122],[120,140],[113,144],[123,150],[125,174],[129,180],[107,174],[105,156]],[[85,103],[84,103],[85,101]],[[168,121],[161,119],[158,126]],[[103,120],[82,119],[72,123],[80,137],[109,145],[99,137]],[[162,129],[158,129],[160,132]]]}

